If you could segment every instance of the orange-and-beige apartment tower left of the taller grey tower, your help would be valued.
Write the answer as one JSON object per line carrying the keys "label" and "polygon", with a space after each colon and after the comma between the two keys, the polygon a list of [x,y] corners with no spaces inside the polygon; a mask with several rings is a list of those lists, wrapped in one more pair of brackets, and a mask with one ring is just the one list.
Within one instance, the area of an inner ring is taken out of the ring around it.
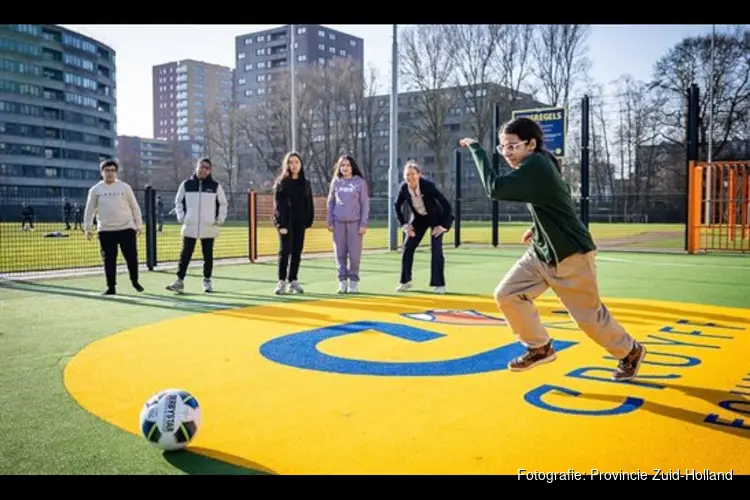
{"label": "orange-and-beige apartment tower left of the taller grey tower", "polygon": [[231,105],[234,70],[192,59],[153,67],[154,138],[203,142],[206,115]]}

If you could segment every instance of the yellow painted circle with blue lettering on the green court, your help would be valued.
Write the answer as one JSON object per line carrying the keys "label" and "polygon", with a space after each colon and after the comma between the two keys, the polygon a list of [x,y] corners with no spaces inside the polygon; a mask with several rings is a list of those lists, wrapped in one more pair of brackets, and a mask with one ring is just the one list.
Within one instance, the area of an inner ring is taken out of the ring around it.
{"label": "yellow painted circle with blue lettering on the green court", "polygon": [[557,360],[512,373],[491,298],[409,294],[129,330],[83,349],[65,384],[135,434],[149,396],[186,389],[203,415],[189,449],[279,474],[750,473],[750,311],[606,303],[649,351],[632,383],[610,381],[616,361],[556,298],[538,304]]}

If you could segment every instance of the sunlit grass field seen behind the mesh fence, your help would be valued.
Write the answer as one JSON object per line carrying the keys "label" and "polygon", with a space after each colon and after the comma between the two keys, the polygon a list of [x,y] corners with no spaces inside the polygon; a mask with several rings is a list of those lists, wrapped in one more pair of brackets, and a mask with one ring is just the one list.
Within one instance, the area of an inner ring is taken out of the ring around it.
{"label": "sunlit grass field seen behind the mesh fence", "polygon": [[[501,245],[517,244],[528,222],[501,222],[499,239]],[[63,231],[59,223],[36,224],[35,231],[20,231],[20,224],[0,224],[0,273],[43,271],[77,267],[95,267],[101,265],[99,243],[97,239],[86,241],[82,231]],[[681,249],[684,246],[684,225],[682,224],[625,224],[625,223],[592,223],[591,232],[598,243],[622,240],[631,237],[654,237],[653,248]],[[46,233],[61,231],[68,234],[65,238],[45,238]],[[668,233],[668,239],[662,239]],[[452,246],[453,232],[444,236],[446,246]],[[489,221],[464,221],[461,224],[462,243],[490,244],[492,242],[491,223]],[[425,239],[423,244],[429,244]],[[639,242],[624,246],[637,246]],[[364,240],[365,249],[386,248],[388,246],[387,222],[374,223]],[[175,262],[180,255],[180,226],[176,223],[165,224],[164,231],[157,234],[157,261]],[[221,228],[221,235],[216,242],[214,254],[217,259],[247,258],[248,227],[246,222],[230,222]],[[332,250],[331,234],[320,224],[314,225],[305,239],[305,252],[330,252]],[[146,238],[138,239],[138,251],[141,262],[146,261]],[[196,249],[200,258],[200,250]],[[278,234],[270,224],[258,228],[258,254],[260,256],[276,255],[278,252]]]}

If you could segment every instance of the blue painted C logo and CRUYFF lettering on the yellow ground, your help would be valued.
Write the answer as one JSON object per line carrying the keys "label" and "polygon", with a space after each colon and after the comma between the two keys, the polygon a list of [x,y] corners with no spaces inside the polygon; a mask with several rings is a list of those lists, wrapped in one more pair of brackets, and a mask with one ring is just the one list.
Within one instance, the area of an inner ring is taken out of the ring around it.
{"label": "blue painted C logo and CRUYFF lettering on the yellow ground", "polygon": [[[473,311],[472,311],[473,312]],[[565,311],[556,311],[566,313]],[[419,318],[427,321],[434,321],[434,317],[429,314],[404,314],[407,318]],[[484,316],[486,319],[486,316]],[[497,318],[501,320],[500,318]],[[468,325],[470,323],[464,323]],[[477,322],[482,325],[484,323]],[[546,323],[549,329],[575,329],[575,323],[563,321],[557,323]],[[701,327],[702,330],[694,329]],[[692,328],[692,329],[691,329]],[[712,333],[707,333],[710,329]],[[670,368],[669,373],[661,374],[644,374],[643,371],[637,379],[628,382],[619,382],[611,379],[609,374],[614,368],[605,366],[584,366],[576,368],[565,374],[571,379],[592,380],[602,383],[629,384],[634,387],[649,390],[662,390],[666,386],[655,382],[657,380],[677,380],[682,377],[678,370],[687,369],[700,365],[703,361],[695,355],[688,355],[680,352],[668,352],[677,349],[694,348],[694,349],[721,349],[719,341],[734,340],[733,335],[720,334],[714,332],[736,332],[745,330],[742,327],[722,325],[714,322],[696,323],[688,319],[679,319],[674,325],[667,325],[659,329],[660,335],[648,334],[647,339],[641,343],[648,346],[648,356],[643,361],[644,365],[660,366]],[[408,342],[430,342],[438,341],[445,337],[445,334],[417,328],[402,323],[389,323],[378,321],[357,321],[344,323],[313,330],[302,331],[285,335],[263,344],[260,348],[261,354],[276,363],[287,365],[294,368],[305,370],[318,370],[329,373],[338,373],[343,375],[373,375],[373,376],[390,376],[390,377],[423,377],[423,376],[459,376],[471,375],[491,371],[502,371],[507,369],[508,362],[525,351],[525,348],[518,342],[506,344],[490,351],[474,354],[463,358],[456,358],[443,361],[429,362],[382,362],[368,361],[344,358],[326,354],[318,349],[318,345],[335,337],[344,335],[353,335],[365,331],[376,331],[386,335],[393,336]],[[669,335],[669,337],[667,336]],[[681,340],[684,338],[699,338],[700,340],[711,341],[710,343]],[[553,346],[560,353],[578,342],[555,340]],[[654,347],[656,349],[654,349]],[[564,354],[561,354],[564,355]],[[611,356],[604,356],[604,359],[614,360]],[[750,389],[750,386],[747,386]],[[574,388],[544,384],[530,390],[524,396],[527,403],[546,411],[564,413],[569,415],[586,415],[586,416],[614,416],[631,413],[643,406],[644,397],[626,396],[624,401],[617,406],[604,410],[574,409],[554,405],[544,400],[544,397],[550,393],[560,393],[567,396],[579,397],[581,392]],[[748,395],[750,392],[742,393],[732,391],[734,394]],[[729,411],[750,415],[750,400],[731,399],[718,402],[718,406]],[[750,430],[750,423],[741,418],[731,421],[722,419],[716,413],[706,415],[704,420],[712,425],[724,425],[736,427],[739,429]]]}

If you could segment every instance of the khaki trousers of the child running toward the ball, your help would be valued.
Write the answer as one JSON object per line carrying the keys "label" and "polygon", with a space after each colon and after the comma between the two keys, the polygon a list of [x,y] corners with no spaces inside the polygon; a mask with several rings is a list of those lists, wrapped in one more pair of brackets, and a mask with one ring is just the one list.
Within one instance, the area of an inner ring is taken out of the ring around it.
{"label": "khaki trousers of the child running toward the ball", "polygon": [[630,353],[633,337],[600,300],[595,257],[595,251],[574,254],[554,266],[539,260],[529,248],[508,271],[495,288],[495,302],[523,345],[542,347],[550,341],[533,300],[552,288],[594,342],[618,359]]}

